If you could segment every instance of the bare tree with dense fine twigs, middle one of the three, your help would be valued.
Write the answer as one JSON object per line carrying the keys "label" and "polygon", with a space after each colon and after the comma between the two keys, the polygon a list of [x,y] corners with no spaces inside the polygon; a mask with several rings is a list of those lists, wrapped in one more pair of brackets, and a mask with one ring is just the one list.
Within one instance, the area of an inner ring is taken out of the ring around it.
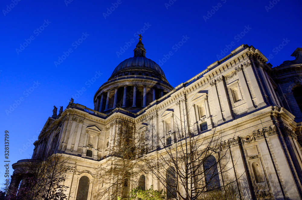
{"label": "bare tree with dense fine twigs, middle one of the three", "polygon": [[105,164],[96,169],[99,184],[95,198],[128,198],[130,185],[137,182],[140,155],[144,146],[136,137],[135,126],[120,122],[117,134],[108,143]]}

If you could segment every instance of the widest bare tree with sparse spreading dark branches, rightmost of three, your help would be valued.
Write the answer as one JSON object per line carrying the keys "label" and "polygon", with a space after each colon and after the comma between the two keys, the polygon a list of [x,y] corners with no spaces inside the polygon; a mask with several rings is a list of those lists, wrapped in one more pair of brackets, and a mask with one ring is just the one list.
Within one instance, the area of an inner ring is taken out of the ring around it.
{"label": "widest bare tree with sparse spreading dark branches, rightmost of three", "polygon": [[[235,139],[223,142],[215,129],[201,134],[191,119],[194,107],[189,107],[185,100],[178,106],[181,115],[174,117],[174,143],[166,140],[163,134],[156,133],[159,146],[143,159],[149,171],[166,189],[167,198],[202,199],[204,193],[225,190],[233,183],[237,186],[236,179],[228,180],[228,171],[233,170],[228,167],[232,162],[230,145]],[[238,187],[233,192],[237,196]]]}

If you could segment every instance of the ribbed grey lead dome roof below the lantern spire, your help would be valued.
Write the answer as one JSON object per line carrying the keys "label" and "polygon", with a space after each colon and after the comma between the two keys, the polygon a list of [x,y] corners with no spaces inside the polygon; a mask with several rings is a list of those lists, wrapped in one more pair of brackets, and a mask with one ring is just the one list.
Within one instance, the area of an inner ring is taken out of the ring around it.
{"label": "ribbed grey lead dome roof below the lantern spire", "polygon": [[143,57],[143,56],[137,56],[137,57],[131,57],[123,62],[121,62],[112,72],[113,76],[115,73],[118,73],[121,70],[124,70],[126,68],[135,68],[135,67],[143,67],[145,69],[151,69],[153,71],[158,72],[159,74],[165,76],[164,72],[160,68],[158,64],[156,64],[153,60]]}

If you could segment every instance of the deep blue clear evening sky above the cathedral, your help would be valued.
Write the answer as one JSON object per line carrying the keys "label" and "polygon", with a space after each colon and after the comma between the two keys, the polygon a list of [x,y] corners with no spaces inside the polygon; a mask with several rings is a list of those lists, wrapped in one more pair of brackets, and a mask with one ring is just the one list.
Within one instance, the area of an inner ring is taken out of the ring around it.
{"label": "deep blue clear evening sky above the cathedral", "polygon": [[[146,57],[156,63],[172,51],[161,67],[175,87],[219,60],[217,55],[231,44],[227,54],[239,45],[253,45],[266,57],[272,54],[273,66],[293,60],[292,52],[302,47],[301,8],[298,0],[2,0],[0,163],[5,130],[12,164],[31,157],[32,143],[54,105],[65,109],[85,87],[75,103],[93,109],[98,88],[120,62],[133,57],[138,31]],[[176,47],[182,39],[185,43]],[[126,44],[131,46],[121,51]],[[60,60],[63,52],[68,56]],[[94,79],[96,72],[102,75]]]}

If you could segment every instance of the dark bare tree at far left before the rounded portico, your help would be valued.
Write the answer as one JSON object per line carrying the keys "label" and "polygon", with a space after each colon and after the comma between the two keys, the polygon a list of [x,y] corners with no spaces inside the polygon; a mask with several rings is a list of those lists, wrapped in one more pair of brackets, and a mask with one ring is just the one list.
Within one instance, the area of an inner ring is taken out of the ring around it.
{"label": "dark bare tree at far left before the rounded portico", "polygon": [[65,200],[68,198],[64,185],[66,181],[66,162],[69,157],[55,153],[54,148],[48,155],[37,155],[18,169],[22,174],[19,185],[8,191],[14,200]]}

